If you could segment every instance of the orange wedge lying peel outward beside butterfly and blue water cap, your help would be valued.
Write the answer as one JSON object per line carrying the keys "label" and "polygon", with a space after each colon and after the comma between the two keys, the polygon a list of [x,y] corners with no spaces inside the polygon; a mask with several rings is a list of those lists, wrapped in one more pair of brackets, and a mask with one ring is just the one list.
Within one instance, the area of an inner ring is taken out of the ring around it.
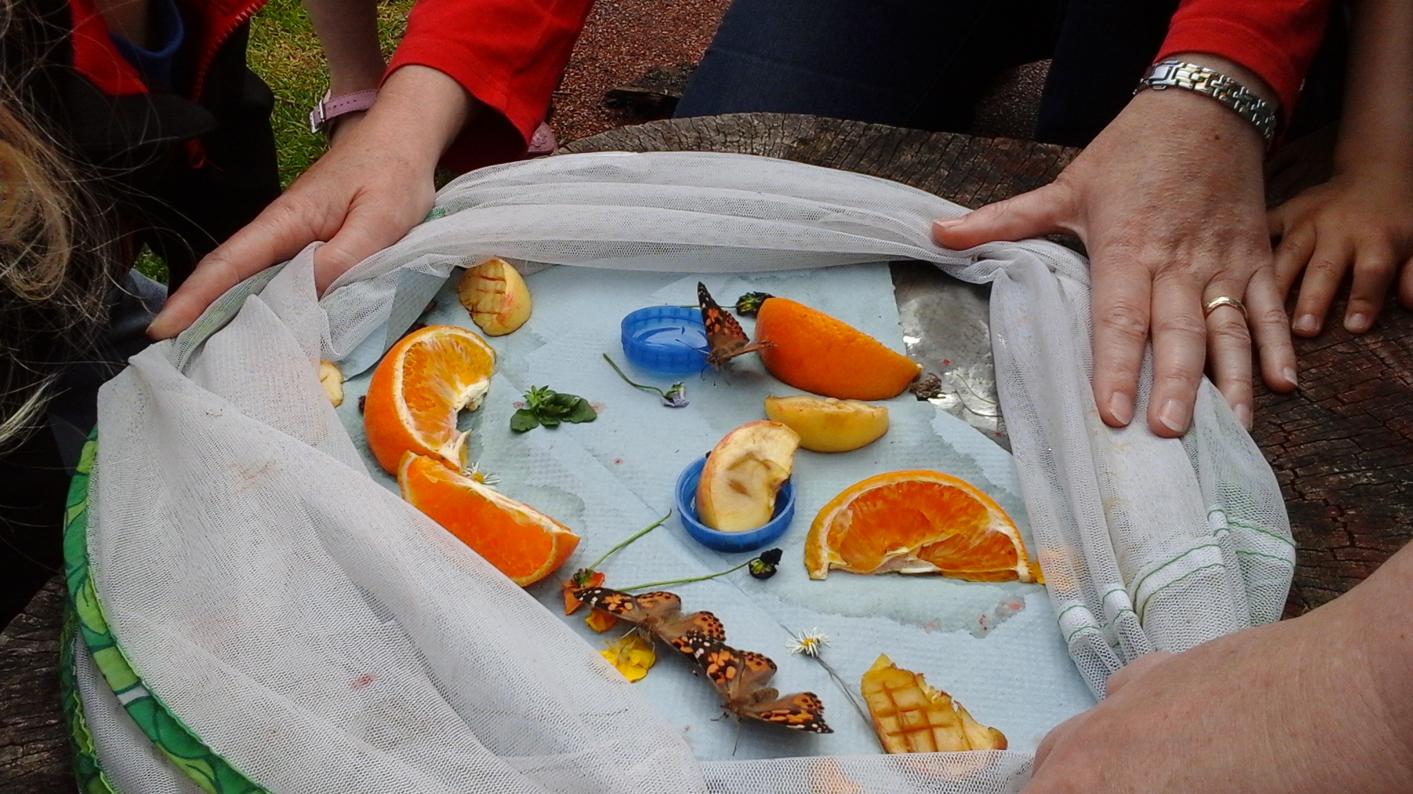
{"label": "orange wedge lying peel outward beside butterfly and blue water cap", "polygon": [[760,304],[756,340],[773,345],[760,350],[770,374],[839,400],[896,397],[923,372],[868,333],[786,298]]}

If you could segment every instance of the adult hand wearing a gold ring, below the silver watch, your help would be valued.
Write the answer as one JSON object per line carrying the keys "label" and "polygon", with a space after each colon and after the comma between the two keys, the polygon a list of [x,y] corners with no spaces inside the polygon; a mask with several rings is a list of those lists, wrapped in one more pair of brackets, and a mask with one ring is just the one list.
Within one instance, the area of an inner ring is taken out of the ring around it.
{"label": "adult hand wearing a gold ring, below the silver watch", "polygon": [[[1181,58],[1263,89],[1235,64]],[[1153,432],[1187,431],[1208,357],[1217,387],[1251,427],[1252,336],[1266,383],[1280,391],[1296,387],[1265,225],[1263,151],[1251,124],[1212,99],[1181,89],[1145,90],[1053,184],[940,220],[934,237],[968,249],[1056,232],[1078,236],[1092,273],[1099,417],[1112,427],[1133,420],[1152,329]],[[1222,295],[1245,301],[1249,322],[1231,307],[1204,318],[1204,305]]]}

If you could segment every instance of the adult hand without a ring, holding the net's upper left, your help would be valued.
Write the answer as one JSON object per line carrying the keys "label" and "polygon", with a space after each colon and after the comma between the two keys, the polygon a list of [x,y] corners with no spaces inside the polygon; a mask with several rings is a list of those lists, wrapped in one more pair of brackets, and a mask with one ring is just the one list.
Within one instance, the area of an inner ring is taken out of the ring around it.
{"label": "adult hand without a ring, holding the net's upper left", "polygon": [[449,76],[403,66],[383,83],[367,116],[341,136],[278,199],[220,247],[167,298],[147,333],[175,336],[212,301],[249,275],[315,240],[315,285],[396,243],[432,208],[432,175],[468,120],[475,99]]}

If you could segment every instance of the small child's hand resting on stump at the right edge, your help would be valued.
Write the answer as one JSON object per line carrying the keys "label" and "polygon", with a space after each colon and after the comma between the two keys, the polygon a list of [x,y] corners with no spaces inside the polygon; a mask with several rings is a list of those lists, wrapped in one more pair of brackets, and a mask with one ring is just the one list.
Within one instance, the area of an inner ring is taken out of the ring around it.
{"label": "small child's hand resting on stump at the right edge", "polygon": [[[1300,298],[1291,312],[1296,335],[1324,326],[1335,290],[1348,270],[1354,285],[1344,328],[1364,333],[1399,275],[1399,301],[1413,308],[1413,172],[1335,174],[1267,213],[1276,247],[1276,281],[1283,295],[1296,280]],[[1400,274],[1402,273],[1402,274]]]}

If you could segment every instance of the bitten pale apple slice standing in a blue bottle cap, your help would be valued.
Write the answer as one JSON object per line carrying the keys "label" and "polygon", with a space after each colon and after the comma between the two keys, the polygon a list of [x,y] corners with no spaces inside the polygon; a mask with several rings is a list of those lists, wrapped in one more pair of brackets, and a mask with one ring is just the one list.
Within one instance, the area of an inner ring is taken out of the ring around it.
{"label": "bitten pale apple slice standing in a blue bottle cap", "polygon": [[706,456],[697,483],[701,521],[723,533],[763,527],[798,446],[800,434],[780,422],[762,420],[728,432]]}

